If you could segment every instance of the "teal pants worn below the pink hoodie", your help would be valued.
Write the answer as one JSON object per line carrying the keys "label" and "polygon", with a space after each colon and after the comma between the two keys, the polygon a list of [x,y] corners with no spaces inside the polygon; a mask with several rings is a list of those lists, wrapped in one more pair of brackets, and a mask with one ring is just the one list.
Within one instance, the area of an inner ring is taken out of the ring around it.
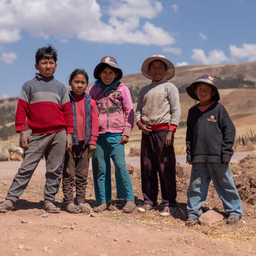
{"label": "teal pants worn below the pink hoodie", "polygon": [[[103,136],[102,136],[103,135]],[[111,201],[111,164],[115,165],[117,198],[134,200],[132,181],[124,159],[124,144],[119,143],[122,134],[104,133],[97,140],[97,149],[92,154],[92,174],[97,203]]]}

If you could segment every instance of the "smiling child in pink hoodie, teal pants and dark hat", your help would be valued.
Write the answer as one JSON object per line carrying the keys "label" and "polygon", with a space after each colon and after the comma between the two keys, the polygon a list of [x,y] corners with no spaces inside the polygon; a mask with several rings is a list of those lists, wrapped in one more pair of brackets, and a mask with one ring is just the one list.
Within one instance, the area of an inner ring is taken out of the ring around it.
{"label": "smiling child in pink hoodie, teal pants and dark hat", "polygon": [[131,94],[119,81],[123,72],[114,57],[103,57],[95,67],[93,76],[97,81],[88,94],[96,101],[99,138],[97,149],[92,153],[92,173],[96,202],[100,203],[93,211],[106,210],[111,201],[111,158],[115,165],[117,198],[126,200],[124,212],[132,212],[136,205],[124,159],[124,144],[128,142],[134,124]]}

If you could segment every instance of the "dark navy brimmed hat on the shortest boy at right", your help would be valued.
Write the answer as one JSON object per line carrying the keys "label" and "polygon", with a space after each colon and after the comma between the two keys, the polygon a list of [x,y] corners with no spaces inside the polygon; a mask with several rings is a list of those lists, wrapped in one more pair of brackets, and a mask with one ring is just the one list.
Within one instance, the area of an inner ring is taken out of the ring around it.
{"label": "dark navy brimmed hat on the shortest boy at right", "polygon": [[192,99],[198,100],[197,97],[196,97],[196,94],[195,94],[195,88],[196,88],[195,86],[196,86],[197,83],[200,83],[200,82],[203,82],[203,83],[206,83],[206,84],[211,84],[212,88],[215,91],[215,95],[213,96],[214,100],[215,101],[220,100],[220,94],[219,94],[219,91],[218,91],[218,88],[217,88],[217,79],[212,77],[212,76],[209,76],[209,75],[200,76],[196,80],[196,82],[194,82],[194,83],[192,83],[192,84],[190,84],[189,86],[186,87],[186,91]]}

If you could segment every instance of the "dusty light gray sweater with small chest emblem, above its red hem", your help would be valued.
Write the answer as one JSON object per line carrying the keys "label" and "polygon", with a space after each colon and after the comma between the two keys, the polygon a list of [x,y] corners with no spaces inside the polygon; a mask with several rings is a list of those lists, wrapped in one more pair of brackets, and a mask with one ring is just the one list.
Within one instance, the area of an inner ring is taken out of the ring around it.
{"label": "dusty light gray sweater with small chest emblem, above its red hem", "polygon": [[180,99],[177,87],[165,78],[142,88],[135,121],[143,124],[179,125]]}

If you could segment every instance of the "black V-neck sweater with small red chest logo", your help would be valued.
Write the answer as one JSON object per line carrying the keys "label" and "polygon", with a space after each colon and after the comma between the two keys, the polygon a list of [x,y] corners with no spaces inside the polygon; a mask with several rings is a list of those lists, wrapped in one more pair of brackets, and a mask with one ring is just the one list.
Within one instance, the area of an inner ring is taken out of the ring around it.
{"label": "black V-neck sweater with small red chest logo", "polygon": [[188,110],[187,161],[230,162],[236,129],[227,110],[219,102],[202,112],[198,106]]}

